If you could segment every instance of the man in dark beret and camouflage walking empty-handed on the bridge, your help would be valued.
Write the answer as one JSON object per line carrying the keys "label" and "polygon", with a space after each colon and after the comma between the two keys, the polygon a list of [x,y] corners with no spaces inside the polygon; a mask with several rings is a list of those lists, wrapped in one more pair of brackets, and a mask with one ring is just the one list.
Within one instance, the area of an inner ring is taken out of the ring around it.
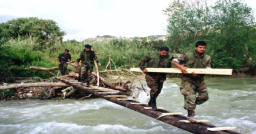
{"label": "man in dark beret and camouflage walking empty-handed on the bridge", "polygon": [[81,85],[83,85],[83,82],[86,81],[86,86],[89,86],[89,82],[91,81],[91,72],[94,68],[94,60],[98,63],[99,66],[101,66],[101,63],[95,52],[91,50],[91,45],[86,44],[85,49],[83,50],[83,52],[81,52],[79,58],[77,58],[75,65],[75,67],[78,67],[79,61],[81,61],[82,63],[80,77]]}

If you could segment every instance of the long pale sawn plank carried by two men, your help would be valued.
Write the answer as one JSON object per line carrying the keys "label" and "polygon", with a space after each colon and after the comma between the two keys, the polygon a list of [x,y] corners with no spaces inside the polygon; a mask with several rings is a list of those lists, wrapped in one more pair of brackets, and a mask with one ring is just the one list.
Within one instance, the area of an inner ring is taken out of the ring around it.
{"label": "long pale sawn plank carried by two men", "polygon": [[[139,68],[130,68],[130,71],[143,72]],[[180,69],[177,68],[147,68],[147,71],[153,73],[182,73]],[[186,69],[188,73],[195,72],[197,74],[214,74],[214,75],[232,75],[233,69]]]}

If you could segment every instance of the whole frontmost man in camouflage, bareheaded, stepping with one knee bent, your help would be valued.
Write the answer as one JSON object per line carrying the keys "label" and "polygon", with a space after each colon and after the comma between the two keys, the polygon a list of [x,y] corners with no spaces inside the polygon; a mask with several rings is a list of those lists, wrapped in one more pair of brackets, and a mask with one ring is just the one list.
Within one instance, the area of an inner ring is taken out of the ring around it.
{"label": "whole frontmost man in camouflage, bareheaded, stepping with one knee bent", "polygon": [[[184,95],[184,108],[188,110],[187,119],[190,122],[195,120],[195,107],[209,99],[206,84],[202,74],[188,74],[187,68],[210,68],[211,57],[205,54],[207,44],[205,41],[197,41],[195,51],[183,54],[179,58],[174,58],[171,62],[182,71],[182,85],[180,93]],[[196,95],[198,93],[198,96]]]}

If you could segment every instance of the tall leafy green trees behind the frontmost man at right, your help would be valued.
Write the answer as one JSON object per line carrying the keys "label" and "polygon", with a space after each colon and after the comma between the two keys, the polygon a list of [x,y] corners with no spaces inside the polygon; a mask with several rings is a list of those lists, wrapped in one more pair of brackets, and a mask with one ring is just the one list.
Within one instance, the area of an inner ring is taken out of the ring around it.
{"label": "tall leafy green trees behind the frontmost man at right", "polygon": [[238,0],[219,0],[213,6],[206,1],[174,1],[165,12],[171,51],[188,52],[196,41],[204,40],[212,67],[239,69],[249,64],[249,58],[255,62],[255,22],[246,4]]}

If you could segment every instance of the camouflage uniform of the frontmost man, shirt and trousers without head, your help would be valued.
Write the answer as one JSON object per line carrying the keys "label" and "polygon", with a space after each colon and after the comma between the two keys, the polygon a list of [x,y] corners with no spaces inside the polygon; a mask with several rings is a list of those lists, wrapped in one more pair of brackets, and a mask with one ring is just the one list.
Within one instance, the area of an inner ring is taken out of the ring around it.
{"label": "camouflage uniform of the frontmost man, shirt and trousers without head", "polygon": [[[173,59],[173,61],[189,68],[211,67],[211,57],[205,53],[198,57],[196,51],[183,54],[179,58]],[[180,93],[184,95],[184,108],[186,110],[195,110],[196,105],[200,105],[209,99],[203,76],[202,74],[195,76],[192,74],[182,74]],[[196,96],[197,93],[198,96]]]}

